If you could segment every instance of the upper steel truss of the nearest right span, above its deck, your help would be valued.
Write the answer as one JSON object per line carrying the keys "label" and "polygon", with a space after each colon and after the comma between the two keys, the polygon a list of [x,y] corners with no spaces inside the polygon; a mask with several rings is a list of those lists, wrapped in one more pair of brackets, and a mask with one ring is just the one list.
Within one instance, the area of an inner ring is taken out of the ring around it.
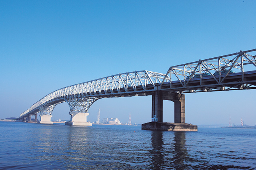
{"label": "upper steel truss of the nearest right span, above its deck", "polygon": [[[172,86],[172,82],[178,81],[182,85],[182,88],[184,88],[184,91],[189,89],[189,83],[192,80],[195,80],[195,78],[200,80],[200,85],[198,87],[206,87],[205,84],[202,84],[202,79],[205,77],[214,78],[214,80],[216,80],[215,85],[222,86],[228,75],[235,72],[241,72],[241,82],[243,82],[244,71],[256,70],[256,56],[248,54],[253,51],[256,51],[256,49],[171,66],[167,71],[165,78],[170,79],[169,88],[175,90],[175,87]],[[161,84],[161,88],[165,82],[165,78]],[[212,85],[213,84],[209,86]]]}

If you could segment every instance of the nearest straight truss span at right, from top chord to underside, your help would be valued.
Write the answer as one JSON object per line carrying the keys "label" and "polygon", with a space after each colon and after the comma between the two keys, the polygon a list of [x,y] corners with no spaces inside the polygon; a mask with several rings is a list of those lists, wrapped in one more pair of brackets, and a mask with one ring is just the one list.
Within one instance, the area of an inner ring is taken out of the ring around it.
{"label": "nearest straight truss span at right, from top chord to underside", "polygon": [[[238,87],[238,85],[229,86],[230,82],[229,80],[226,81],[226,79],[228,76],[233,75],[233,73],[239,72],[240,79],[236,78],[236,82],[231,84],[250,84],[249,80],[245,79],[245,69],[247,72],[256,70],[256,57],[255,55],[248,54],[254,51],[256,49],[171,66],[166,73],[166,76],[170,77],[169,86],[162,82],[160,89],[170,88],[178,90],[180,93],[190,92],[191,90],[197,92],[198,88],[202,89],[201,91],[233,89]],[[194,83],[196,78],[198,82]],[[212,79],[212,82],[207,84],[205,79]],[[179,82],[180,85],[177,86],[176,82]],[[241,87],[238,89],[241,89]]]}

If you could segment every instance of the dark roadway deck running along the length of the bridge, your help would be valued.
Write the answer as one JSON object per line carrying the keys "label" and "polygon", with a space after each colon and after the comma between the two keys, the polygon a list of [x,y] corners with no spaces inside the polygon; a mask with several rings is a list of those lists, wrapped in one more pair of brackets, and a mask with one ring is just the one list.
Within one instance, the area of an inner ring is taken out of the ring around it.
{"label": "dark roadway deck running along the length of the bridge", "polygon": [[[215,76],[218,78],[219,76]],[[221,77],[224,77],[223,75]],[[192,78],[190,82],[184,87],[181,82],[184,83],[184,80],[172,81],[170,82],[164,82],[162,84],[162,88],[160,87],[160,83],[156,83],[155,86],[158,87],[158,90],[165,90],[170,92],[182,92],[182,93],[191,93],[191,92],[206,92],[206,91],[223,91],[223,90],[240,90],[240,89],[252,89],[255,87],[244,87],[242,84],[251,84],[256,86],[256,70],[244,72],[244,82],[242,80],[242,74],[241,72],[232,73],[229,74],[223,84],[220,85],[216,83],[216,80],[212,76],[202,77],[202,82],[204,86],[200,85],[200,78]],[[186,80],[185,80],[186,82]],[[227,88],[225,88],[225,86]],[[232,89],[235,88],[235,89]],[[135,90],[133,87],[127,87],[127,89],[120,88],[120,89],[113,89],[113,90],[102,90],[101,92],[87,92],[87,93],[80,93],[75,94],[76,96],[80,98],[86,98],[86,97],[97,97],[97,98],[113,98],[113,97],[127,97],[127,96],[148,96],[152,95],[152,91],[154,91],[156,88],[152,84],[146,85],[145,90],[143,87],[136,86]],[[60,96],[58,98],[53,98],[52,100],[49,100],[46,105],[51,106],[53,104],[60,104],[63,102],[66,102],[65,98],[70,98],[72,95],[65,95]],[[29,114],[36,114],[40,112],[39,109],[33,109],[32,111],[29,111]],[[26,116],[23,115],[23,116]]]}

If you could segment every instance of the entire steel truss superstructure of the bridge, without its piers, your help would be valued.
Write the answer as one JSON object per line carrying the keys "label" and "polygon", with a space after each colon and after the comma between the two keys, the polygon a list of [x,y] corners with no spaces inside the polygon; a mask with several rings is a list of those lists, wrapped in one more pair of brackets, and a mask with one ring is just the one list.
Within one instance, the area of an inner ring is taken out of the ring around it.
{"label": "entire steel truss superstructure of the bridge, without its piers", "polygon": [[[166,74],[147,70],[126,72],[58,89],[33,104],[20,117],[67,102],[71,111],[88,111],[100,98],[151,95],[155,90],[175,93],[256,88],[256,49],[171,66]],[[253,72],[255,70],[255,72]]]}

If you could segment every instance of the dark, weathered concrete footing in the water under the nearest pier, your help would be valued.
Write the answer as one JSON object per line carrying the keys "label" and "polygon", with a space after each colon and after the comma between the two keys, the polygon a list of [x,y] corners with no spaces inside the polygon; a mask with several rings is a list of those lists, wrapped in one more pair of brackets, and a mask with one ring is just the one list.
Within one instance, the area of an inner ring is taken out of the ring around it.
{"label": "dark, weathered concrete footing in the water under the nearest pier", "polygon": [[188,123],[148,122],[141,125],[142,130],[158,131],[197,131],[197,125]]}

